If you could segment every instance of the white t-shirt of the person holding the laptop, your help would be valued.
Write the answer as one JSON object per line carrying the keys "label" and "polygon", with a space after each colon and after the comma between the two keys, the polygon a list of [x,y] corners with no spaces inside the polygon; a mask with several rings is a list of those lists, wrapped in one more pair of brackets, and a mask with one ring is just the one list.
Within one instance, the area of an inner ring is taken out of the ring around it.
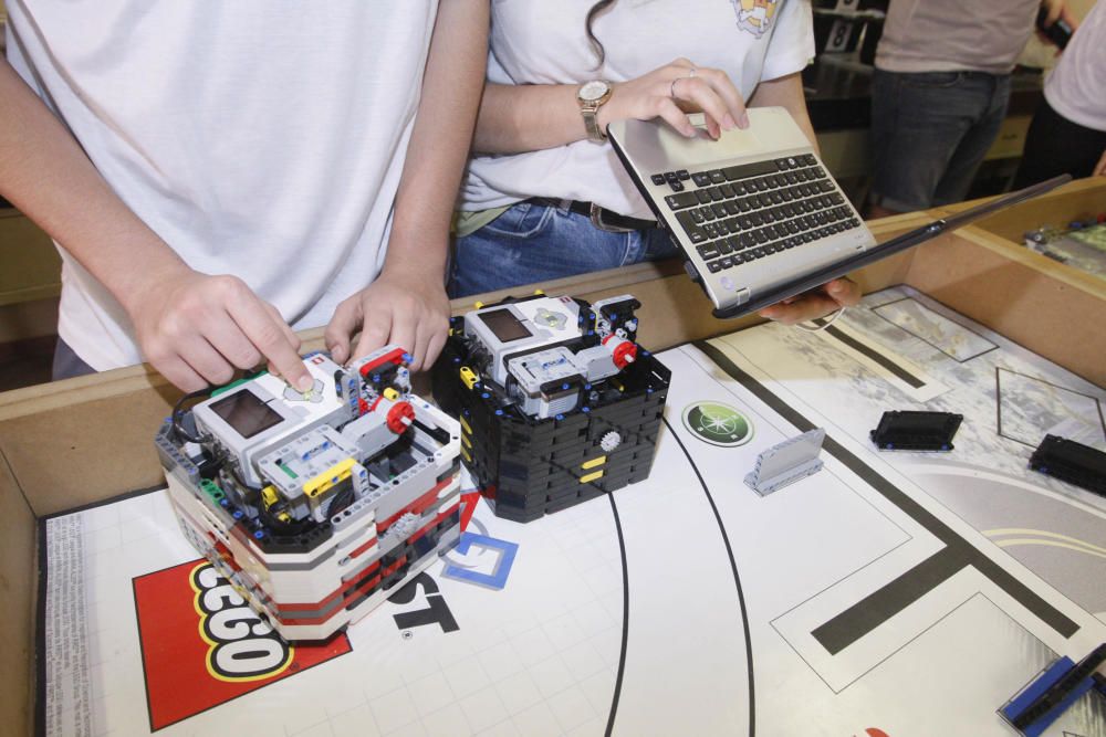
{"label": "white t-shirt of the person holding the laptop", "polygon": [[[686,56],[697,66],[724,70],[748,99],[760,80],[799,72],[814,55],[808,0],[617,0],[593,25],[606,51],[597,67],[585,32],[593,4],[595,0],[492,0],[489,81],[618,83]],[[583,130],[583,119],[580,125]],[[474,158],[461,209],[488,210],[531,197],[582,200],[651,217],[614,149],[591,140]]]}

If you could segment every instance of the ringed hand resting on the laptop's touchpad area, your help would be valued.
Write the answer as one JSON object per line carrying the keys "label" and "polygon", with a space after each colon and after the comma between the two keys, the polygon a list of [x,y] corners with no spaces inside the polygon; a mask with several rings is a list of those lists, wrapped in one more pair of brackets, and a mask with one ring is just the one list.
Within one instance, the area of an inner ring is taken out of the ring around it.
{"label": "ringed hand resting on the laptop's touchpad area", "polygon": [[613,120],[664,118],[688,136],[695,126],[687,113],[702,112],[707,131],[718,138],[721,129],[748,128],[749,116],[741,93],[721,70],[697,67],[686,59],[656,69],[644,76],[614,85],[611,99],[596,114],[599,128]]}

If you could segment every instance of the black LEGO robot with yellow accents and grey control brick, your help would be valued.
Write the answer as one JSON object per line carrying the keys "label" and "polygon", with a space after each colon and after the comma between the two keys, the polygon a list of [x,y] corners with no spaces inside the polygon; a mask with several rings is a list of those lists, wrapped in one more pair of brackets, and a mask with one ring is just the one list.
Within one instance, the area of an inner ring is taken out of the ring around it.
{"label": "black LEGO robot with yellow accents and grey control brick", "polygon": [[532,522],[648,477],[671,372],[635,343],[639,306],[539,294],[453,318],[434,396],[497,516]]}

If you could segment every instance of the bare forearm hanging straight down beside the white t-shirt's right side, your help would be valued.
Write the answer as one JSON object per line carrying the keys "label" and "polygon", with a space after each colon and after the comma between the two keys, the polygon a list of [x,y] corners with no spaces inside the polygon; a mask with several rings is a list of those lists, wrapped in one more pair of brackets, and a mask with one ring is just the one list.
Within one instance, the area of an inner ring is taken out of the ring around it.
{"label": "bare forearm hanging straight down beside the white t-shirt's right side", "polygon": [[488,1],[442,0],[407,147],[385,271],[445,273],[488,57]]}

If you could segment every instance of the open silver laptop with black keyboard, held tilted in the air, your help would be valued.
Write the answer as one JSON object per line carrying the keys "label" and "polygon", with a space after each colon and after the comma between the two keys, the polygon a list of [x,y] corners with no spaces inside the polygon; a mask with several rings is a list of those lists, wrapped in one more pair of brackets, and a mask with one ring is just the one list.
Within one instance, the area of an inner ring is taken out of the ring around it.
{"label": "open silver laptop with black keyboard, held tilted in the air", "polygon": [[876,243],[791,114],[749,108],[749,127],[686,138],[661,120],[607,136],[684,252],[714,316],[741,317],[1070,181],[1067,175]]}

